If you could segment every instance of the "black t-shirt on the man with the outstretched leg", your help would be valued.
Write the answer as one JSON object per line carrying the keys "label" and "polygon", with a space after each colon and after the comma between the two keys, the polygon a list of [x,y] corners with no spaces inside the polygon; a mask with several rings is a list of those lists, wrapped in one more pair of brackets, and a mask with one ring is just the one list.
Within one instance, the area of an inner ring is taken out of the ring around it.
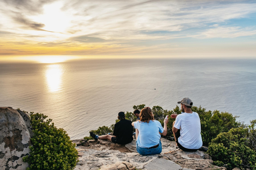
{"label": "black t-shirt on the man with the outstretched leg", "polygon": [[132,121],[123,119],[115,124],[113,135],[117,136],[117,143],[127,144],[133,140],[132,137],[133,126]]}

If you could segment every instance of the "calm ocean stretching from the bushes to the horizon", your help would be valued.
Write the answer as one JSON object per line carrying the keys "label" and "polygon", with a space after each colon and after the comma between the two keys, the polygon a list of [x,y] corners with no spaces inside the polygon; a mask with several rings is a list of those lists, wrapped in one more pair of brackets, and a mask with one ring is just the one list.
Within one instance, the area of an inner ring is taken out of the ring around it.
{"label": "calm ocean stretching from the bushes to the horizon", "polygon": [[71,139],[115,123],[134,105],[194,106],[256,119],[256,59],[84,59],[0,63],[0,106],[43,113]]}

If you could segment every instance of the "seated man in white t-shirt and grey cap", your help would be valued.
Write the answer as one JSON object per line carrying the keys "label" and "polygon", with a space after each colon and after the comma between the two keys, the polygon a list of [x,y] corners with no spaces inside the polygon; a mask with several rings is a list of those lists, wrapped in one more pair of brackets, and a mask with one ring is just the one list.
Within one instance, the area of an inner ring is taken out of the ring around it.
{"label": "seated man in white t-shirt and grey cap", "polygon": [[176,118],[172,127],[175,141],[183,151],[196,151],[203,145],[200,118],[191,111],[193,102],[189,98],[182,99],[178,104],[181,104],[184,113],[171,115],[171,118]]}

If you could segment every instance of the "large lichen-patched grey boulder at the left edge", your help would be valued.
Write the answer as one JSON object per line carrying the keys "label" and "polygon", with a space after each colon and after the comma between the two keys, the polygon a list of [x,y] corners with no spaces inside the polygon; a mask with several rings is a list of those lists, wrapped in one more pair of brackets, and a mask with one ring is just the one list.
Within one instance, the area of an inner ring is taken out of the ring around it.
{"label": "large lichen-patched grey boulder at the left edge", "polygon": [[28,116],[11,107],[0,107],[0,169],[25,170],[33,128]]}

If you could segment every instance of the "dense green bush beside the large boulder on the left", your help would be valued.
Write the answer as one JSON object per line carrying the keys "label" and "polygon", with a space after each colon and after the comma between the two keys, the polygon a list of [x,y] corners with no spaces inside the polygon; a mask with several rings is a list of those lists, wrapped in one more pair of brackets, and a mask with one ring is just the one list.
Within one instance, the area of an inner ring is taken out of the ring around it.
{"label": "dense green bush beside the large boulder on the left", "polygon": [[[25,111],[23,111],[25,112]],[[25,112],[28,114],[28,112]],[[34,136],[31,138],[30,155],[23,161],[28,162],[27,170],[71,170],[78,162],[75,144],[62,128],[56,128],[47,116],[30,112],[28,114]]]}

